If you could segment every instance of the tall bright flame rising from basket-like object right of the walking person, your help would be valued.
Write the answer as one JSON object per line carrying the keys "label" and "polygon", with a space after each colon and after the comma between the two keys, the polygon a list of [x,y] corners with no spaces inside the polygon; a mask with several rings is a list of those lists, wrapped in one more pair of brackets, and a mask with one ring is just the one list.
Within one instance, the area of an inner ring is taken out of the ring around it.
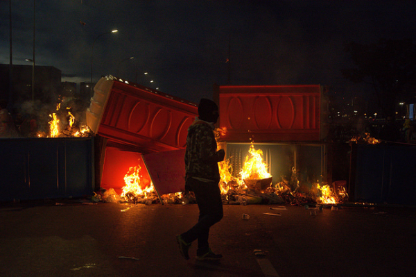
{"label": "tall bright flame rising from basket-like object right of the walking person", "polygon": [[240,171],[241,179],[246,180],[270,178],[271,175],[268,172],[268,165],[263,162],[263,151],[261,151],[261,149],[254,149],[254,145],[250,144],[248,153],[250,156],[245,156],[243,169]]}

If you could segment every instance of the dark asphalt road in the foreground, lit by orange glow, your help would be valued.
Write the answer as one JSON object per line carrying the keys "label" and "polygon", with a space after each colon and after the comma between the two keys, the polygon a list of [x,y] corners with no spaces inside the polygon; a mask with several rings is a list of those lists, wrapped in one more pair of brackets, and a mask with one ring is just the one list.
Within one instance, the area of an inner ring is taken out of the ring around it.
{"label": "dark asphalt road in the foreground, lit by orange glow", "polygon": [[225,205],[208,263],[175,241],[194,204],[1,205],[0,276],[415,276],[416,208],[281,207]]}

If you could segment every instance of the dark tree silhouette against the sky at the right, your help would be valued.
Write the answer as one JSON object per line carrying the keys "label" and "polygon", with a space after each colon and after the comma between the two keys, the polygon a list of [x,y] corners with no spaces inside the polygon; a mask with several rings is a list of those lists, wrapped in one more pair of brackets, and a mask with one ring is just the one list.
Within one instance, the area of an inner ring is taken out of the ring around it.
{"label": "dark tree silhouette against the sky at the right", "polygon": [[397,101],[415,101],[416,45],[411,40],[348,42],[344,51],[356,67],[342,69],[343,76],[354,83],[370,83],[384,116],[394,115]]}

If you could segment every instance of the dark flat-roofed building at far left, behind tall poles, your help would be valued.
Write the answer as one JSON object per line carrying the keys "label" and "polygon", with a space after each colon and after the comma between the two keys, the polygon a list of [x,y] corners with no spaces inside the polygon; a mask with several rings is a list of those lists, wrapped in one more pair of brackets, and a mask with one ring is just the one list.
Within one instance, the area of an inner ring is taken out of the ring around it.
{"label": "dark flat-roofed building at far left, behind tall poles", "polygon": [[[32,65],[12,65],[10,84],[10,65],[0,65],[0,98],[12,103],[23,103],[32,99]],[[33,98],[50,102],[62,92],[62,72],[51,66],[35,65]],[[11,86],[11,90],[10,90]],[[9,95],[11,92],[11,95]]]}

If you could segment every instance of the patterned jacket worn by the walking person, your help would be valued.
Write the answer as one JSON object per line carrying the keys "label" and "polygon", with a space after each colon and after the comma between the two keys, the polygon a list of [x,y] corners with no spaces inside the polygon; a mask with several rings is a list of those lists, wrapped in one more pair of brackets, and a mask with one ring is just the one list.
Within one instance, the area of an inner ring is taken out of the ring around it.
{"label": "patterned jacket worn by the walking person", "polygon": [[196,119],[188,128],[185,168],[187,177],[205,178],[219,182],[218,162],[220,157],[214,126],[207,121]]}

